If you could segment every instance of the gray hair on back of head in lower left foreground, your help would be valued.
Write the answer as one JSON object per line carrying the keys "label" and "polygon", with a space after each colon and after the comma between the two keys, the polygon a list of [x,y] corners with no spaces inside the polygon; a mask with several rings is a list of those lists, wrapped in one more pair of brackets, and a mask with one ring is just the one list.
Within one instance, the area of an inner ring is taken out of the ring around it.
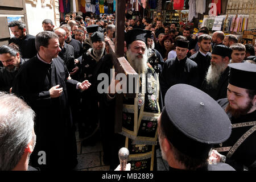
{"label": "gray hair on back of head in lower left foreground", "polygon": [[0,171],[14,169],[27,144],[35,140],[34,117],[26,102],[0,92]]}

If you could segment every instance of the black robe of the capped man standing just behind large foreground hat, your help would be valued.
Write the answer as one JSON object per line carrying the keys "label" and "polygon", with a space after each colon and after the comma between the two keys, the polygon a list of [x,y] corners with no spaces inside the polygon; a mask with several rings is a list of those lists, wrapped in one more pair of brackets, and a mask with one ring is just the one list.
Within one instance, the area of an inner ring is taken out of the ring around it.
{"label": "black robe of the capped man standing just behind large foreground hat", "polygon": [[168,59],[164,63],[159,81],[163,100],[167,90],[175,84],[188,84],[197,87],[199,84],[197,64],[187,57],[182,60],[178,60],[177,57]]}

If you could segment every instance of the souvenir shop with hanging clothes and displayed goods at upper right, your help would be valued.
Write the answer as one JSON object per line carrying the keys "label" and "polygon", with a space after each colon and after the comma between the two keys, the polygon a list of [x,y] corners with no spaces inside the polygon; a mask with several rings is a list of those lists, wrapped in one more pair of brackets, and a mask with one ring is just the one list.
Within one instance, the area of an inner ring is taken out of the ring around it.
{"label": "souvenir shop with hanging clothes and displayed goods at upper right", "polygon": [[[185,26],[196,34],[201,27],[208,27],[210,35],[223,31],[236,35],[241,43],[255,43],[255,0],[146,0],[144,15],[160,18],[165,23],[175,22],[182,32]],[[146,12],[146,13],[145,13]]]}

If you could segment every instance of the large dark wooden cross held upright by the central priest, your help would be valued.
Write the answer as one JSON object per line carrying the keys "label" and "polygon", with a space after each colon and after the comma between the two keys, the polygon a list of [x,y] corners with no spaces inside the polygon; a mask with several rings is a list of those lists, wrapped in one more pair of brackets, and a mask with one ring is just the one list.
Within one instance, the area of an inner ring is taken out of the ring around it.
{"label": "large dark wooden cross held upright by the central priest", "polygon": [[[128,82],[130,77],[138,76],[131,67],[130,63],[125,59],[123,48],[125,41],[125,3],[122,0],[117,0],[115,10],[116,20],[115,20],[115,45],[110,40],[107,42],[106,49],[108,53],[112,56],[112,63],[115,68],[115,72],[124,73],[127,76],[127,90]],[[133,84],[134,85],[134,84]],[[135,85],[133,87],[135,89]],[[130,93],[126,94],[126,97],[135,98],[136,94]],[[123,112],[123,93],[115,94],[115,133],[122,131],[122,112]]]}

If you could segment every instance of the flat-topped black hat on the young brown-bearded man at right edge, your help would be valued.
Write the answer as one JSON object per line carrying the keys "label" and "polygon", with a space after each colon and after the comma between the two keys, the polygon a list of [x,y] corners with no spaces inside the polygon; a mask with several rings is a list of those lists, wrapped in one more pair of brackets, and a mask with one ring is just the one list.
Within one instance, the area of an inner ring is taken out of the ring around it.
{"label": "flat-topped black hat on the young brown-bearded man at right edge", "polygon": [[256,64],[230,63],[229,83],[244,89],[256,90]]}

